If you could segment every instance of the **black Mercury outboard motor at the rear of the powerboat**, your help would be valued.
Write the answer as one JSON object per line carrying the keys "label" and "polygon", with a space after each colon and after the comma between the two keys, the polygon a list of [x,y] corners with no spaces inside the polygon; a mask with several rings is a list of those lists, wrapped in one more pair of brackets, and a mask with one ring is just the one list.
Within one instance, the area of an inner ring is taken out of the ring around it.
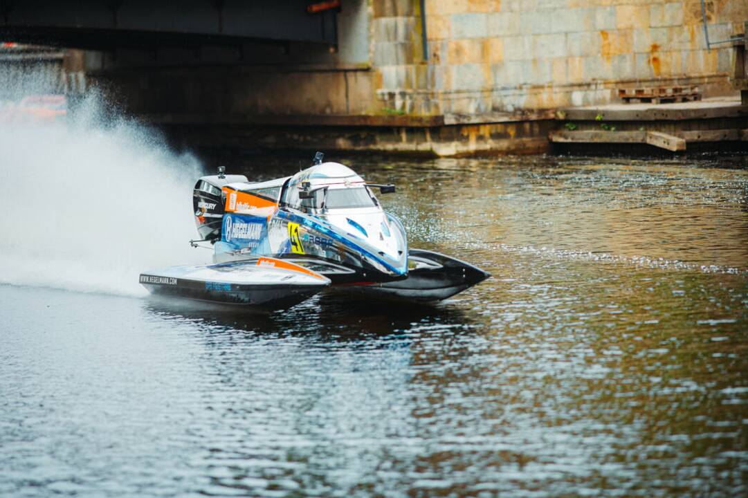
{"label": "black Mercury outboard motor at the rear of the powerboat", "polygon": [[226,197],[222,190],[224,185],[233,182],[246,182],[244,175],[226,175],[226,167],[219,166],[218,174],[202,176],[194,184],[192,191],[192,209],[197,233],[205,241],[214,242],[221,239],[221,224],[224,218]]}

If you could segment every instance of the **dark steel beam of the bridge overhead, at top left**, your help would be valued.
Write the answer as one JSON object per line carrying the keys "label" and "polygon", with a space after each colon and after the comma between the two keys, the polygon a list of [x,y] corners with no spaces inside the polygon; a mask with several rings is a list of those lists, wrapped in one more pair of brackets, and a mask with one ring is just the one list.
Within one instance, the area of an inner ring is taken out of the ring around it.
{"label": "dark steel beam of the bridge overhead, at top left", "polygon": [[[310,0],[0,0],[0,41],[79,49],[337,44],[336,10]],[[334,5],[339,2],[328,2]]]}

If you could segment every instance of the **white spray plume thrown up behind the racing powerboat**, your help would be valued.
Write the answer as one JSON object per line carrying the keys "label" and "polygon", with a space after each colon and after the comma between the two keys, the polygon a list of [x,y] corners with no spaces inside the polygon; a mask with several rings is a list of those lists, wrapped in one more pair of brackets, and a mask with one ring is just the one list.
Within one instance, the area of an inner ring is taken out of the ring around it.
{"label": "white spray plume thrown up behind the racing powerboat", "polygon": [[99,96],[52,123],[0,121],[0,283],[144,295],[141,271],[209,262],[194,239],[194,156]]}

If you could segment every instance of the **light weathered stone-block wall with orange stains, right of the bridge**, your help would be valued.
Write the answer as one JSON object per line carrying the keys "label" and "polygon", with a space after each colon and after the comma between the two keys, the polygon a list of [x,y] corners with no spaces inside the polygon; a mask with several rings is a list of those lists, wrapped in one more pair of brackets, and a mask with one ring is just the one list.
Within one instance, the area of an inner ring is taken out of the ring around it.
{"label": "light weathered stone-block wall with orange stains, right of the bridge", "polygon": [[[706,49],[699,0],[371,0],[385,108],[485,114],[609,102],[616,87],[729,91],[731,49]],[[712,41],[742,31],[746,0],[706,2]]]}

